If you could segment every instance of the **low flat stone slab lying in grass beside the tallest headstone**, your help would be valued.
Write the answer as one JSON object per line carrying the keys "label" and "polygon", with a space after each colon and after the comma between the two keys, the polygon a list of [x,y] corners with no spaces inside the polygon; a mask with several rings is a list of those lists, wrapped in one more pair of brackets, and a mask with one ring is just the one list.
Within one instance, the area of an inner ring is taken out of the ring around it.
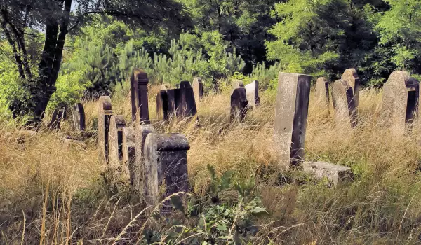
{"label": "low flat stone slab lying in grass beside the tallest headstone", "polygon": [[304,162],[302,171],[315,179],[328,179],[333,187],[338,187],[342,183],[352,182],[354,174],[351,168],[341,165],[334,165],[329,162]]}

